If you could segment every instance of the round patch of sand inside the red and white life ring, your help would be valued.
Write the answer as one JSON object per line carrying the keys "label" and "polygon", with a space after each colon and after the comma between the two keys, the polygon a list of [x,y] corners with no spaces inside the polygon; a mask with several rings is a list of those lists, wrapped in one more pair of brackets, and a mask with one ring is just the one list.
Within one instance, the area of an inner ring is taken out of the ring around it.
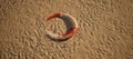
{"label": "round patch of sand inside the red and white life ring", "polygon": [[47,30],[55,35],[62,35],[66,31],[66,26],[60,18],[53,18],[47,22]]}

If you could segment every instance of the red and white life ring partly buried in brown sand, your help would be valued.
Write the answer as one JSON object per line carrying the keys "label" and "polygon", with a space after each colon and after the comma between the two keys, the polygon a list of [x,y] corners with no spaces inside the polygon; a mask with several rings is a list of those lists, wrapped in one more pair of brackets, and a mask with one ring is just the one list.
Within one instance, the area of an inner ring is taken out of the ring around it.
{"label": "red and white life ring partly buried in brown sand", "polygon": [[71,38],[72,36],[74,36],[78,32],[78,22],[70,14],[66,14],[66,13],[53,13],[52,16],[50,16],[47,19],[47,21],[50,21],[53,18],[62,19],[65,22],[66,28],[69,27],[70,29],[66,30],[65,33],[63,33],[63,35],[55,35],[55,33],[50,32],[49,30],[45,30],[45,33],[47,33],[47,36],[49,38],[51,38],[51,39],[53,39],[55,41],[64,41],[64,40],[68,40],[69,38]]}

